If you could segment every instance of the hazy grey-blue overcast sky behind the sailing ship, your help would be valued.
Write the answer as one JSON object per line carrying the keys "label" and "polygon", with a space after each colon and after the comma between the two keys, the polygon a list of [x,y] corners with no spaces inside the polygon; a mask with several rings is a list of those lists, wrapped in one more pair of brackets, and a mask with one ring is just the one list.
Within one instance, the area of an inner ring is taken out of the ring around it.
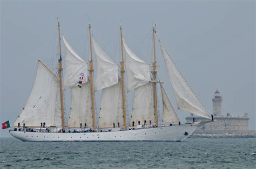
{"label": "hazy grey-blue overcast sky behind the sailing ship", "polygon": [[[248,112],[250,129],[256,129],[254,1],[1,1],[1,123],[13,124],[22,111],[38,59],[56,72],[57,17],[70,45],[87,60],[87,14],[99,44],[117,63],[120,19],[127,43],[149,63],[152,24],[157,24],[157,39],[206,109],[212,113],[218,89],[223,115]],[[158,43],[157,65],[177,109]],[[65,94],[69,110],[69,91]],[[96,97],[99,109],[100,93]],[[188,115],[180,112],[181,122]],[[0,131],[2,137],[10,136],[8,130]]]}

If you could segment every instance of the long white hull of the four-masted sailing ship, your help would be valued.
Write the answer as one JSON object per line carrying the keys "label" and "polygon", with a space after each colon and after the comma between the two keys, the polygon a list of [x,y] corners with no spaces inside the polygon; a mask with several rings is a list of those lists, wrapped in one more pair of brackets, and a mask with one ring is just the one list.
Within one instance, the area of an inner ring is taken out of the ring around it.
{"label": "long white hull of the four-masted sailing ship", "polygon": [[[22,141],[182,141],[197,128],[197,123],[163,126],[137,130],[111,132],[24,132],[12,131],[10,134]],[[185,134],[187,132],[187,135]]]}

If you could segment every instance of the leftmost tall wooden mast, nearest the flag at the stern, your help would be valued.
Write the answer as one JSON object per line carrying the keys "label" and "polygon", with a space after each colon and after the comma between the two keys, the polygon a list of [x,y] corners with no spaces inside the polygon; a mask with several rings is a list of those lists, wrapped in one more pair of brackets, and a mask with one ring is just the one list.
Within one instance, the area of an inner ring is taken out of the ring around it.
{"label": "leftmost tall wooden mast, nearest the flag at the stern", "polygon": [[59,93],[60,93],[60,109],[62,111],[62,130],[65,130],[65,116],[64,116],[64,102],[63,102],[63,88],[62,88],[62,47],[60,45],[60,25],[58,19],[58,32],[59,32]]}

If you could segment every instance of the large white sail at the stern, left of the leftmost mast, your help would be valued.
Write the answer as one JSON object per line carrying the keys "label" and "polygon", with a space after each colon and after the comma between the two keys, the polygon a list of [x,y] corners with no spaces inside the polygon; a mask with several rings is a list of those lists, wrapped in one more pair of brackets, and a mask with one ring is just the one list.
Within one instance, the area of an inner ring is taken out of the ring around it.
{"label": "large white sail at the stern, left of the leftmost mast", "polygon": [[21,114],[16,119],[14,125],[18,123],[26,126],[61,126],[62,118],[59,107],[59,81],[42,61],[38,61],[36,80],[31,94],[25,104]]}

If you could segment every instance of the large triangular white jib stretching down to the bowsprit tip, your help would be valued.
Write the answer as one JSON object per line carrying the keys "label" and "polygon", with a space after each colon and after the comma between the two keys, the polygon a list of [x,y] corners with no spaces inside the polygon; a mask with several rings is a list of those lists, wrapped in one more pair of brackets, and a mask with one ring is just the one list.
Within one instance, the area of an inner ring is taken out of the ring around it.
{"label": "large triangular white jib stretching down to the bowsprit tip", "polygon": [[192,89],[187,85],[187,82],[180,74],[161,43],[160,47],[167,67],[167,72],[172,83],[172,89],[176,97],[178,109],[211,119],[211,115],[208,114],[204,105],[198,100]]}

